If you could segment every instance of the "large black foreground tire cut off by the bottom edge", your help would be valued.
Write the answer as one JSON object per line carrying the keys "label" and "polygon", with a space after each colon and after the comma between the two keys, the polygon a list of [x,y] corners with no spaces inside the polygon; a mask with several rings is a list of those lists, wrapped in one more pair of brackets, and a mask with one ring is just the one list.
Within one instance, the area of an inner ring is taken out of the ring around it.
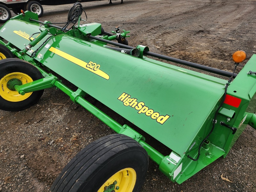
{"label": "large black foreground tire cut off by the bottom edge", "polygon": [[[132,138],[122,134],[102,137],[82,149],[53,182],[53,192],[97,192],[116,172],[132,168],[139,192],[148,172],[148,154]],[[130,191],[127,191],[130,192]]]}

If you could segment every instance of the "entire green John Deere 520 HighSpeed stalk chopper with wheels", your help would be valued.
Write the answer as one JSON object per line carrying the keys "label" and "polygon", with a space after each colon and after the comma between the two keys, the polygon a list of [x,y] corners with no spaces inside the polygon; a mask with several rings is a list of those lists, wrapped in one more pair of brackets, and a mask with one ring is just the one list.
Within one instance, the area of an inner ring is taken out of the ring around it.
{"label": "entire green John Deere 520 HighSpeed stalk chopper with wheels", "polygon": [[[227,156],[247,124],[255,129],[256,55],[239,74],[235,70],[246,58],[243,51],[233,54],[233,73],[205,67],[149,52],[143,45],[128,46],[130,31],[116,27],[111,34],[99,23],[81,24],[83,12],[81,4],[74,4],[64,27],[23,12],[0,29],[0,109],[23,110],[35,104],[44,89],[57,87],[116,132],[80,151],[54,181],[52,191],[140,191],[148,157],[170,180],[180,184]],[[68,28],[69,24],[72,27]],[[77,90],[68,88],[58,77],[76,85]],[[85,100],[87,94],[147,132],[171,153],[162,155],[139,132]]]}

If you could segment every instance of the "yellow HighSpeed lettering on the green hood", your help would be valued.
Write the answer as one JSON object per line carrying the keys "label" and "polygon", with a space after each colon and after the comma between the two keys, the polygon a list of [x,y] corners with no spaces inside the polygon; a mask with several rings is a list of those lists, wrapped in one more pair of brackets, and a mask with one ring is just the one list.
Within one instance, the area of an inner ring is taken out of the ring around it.
{"label": "yellow HighSpeed lettering on the green hood", "polygon": [[164,124],[164,122],[170,117],[169,115],[160,115],[160,113],[147,107],[144,102],[138,102],[136,98],[131,98],[131,95],[128,95],[125,92],[122,95],[120,95],[117,99],[122,101],[124,106],[130,106],[136,109],[139,114],[144,113],[146,116],[151,117],[151,119],[155,119],[157,123]]}

